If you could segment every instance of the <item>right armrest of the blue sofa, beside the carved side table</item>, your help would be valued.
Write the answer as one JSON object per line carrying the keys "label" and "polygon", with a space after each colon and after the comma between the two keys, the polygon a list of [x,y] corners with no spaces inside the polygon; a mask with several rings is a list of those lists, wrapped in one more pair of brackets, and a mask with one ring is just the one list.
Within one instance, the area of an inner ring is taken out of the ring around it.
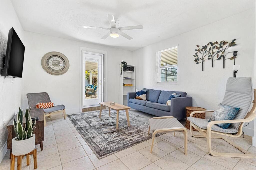
{"label": "right armrest of the blue sofa, beside the carved side table", "polygon": [[170,113],[178,120],[186,118],[186,107],[192,106],[192,97],[177,97],[171,99]]}

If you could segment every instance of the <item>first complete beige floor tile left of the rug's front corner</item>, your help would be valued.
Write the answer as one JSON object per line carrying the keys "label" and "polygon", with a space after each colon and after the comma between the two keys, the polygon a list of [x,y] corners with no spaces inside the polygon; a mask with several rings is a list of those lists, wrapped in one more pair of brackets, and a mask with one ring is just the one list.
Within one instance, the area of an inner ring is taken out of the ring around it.
{"label": "first complete beige floor tile left of the rug's front corner", "polygon": [[59,154],[60,154],[60,160],[62,164],[65,164],[67,162],[86,156],[86,153],[84,152],[81,146],[60,152]]}

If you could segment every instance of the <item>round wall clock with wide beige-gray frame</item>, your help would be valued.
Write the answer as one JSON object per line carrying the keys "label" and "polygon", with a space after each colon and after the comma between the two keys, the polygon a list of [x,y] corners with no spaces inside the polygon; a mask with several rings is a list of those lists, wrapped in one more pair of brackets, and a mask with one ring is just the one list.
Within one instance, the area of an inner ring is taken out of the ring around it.
{"label": "round wall clock with wide beige-gray frame", "polygon": [[68,58],[56,51],[46,53],[41,60],[41,64],[43,69],[52,75],[64,74],[69,68]]}

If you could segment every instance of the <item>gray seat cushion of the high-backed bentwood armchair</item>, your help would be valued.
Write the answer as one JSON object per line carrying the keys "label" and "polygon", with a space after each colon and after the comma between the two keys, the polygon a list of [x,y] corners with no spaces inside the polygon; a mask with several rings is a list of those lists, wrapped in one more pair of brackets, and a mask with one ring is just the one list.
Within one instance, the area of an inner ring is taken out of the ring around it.
{"label": "gray seat cushion of the high-backed bentwood armchair", "polygon": [[[198,126],[201,129],[207,129],[207,125],[208,125],[208,120],[206,119],[199,119],[196,117],[188,117],[188,120],[191,121],[193,124],[195,124],[196,126]],[[211,130],[216,131],[216,132],[222,132],[222,133],[237,133],[238,130],[236,130],[235,128],[232,127],[228,127],[227,129],[222,129],[221,127],[217,126],[217,125],[213,125],[211,127]]]}

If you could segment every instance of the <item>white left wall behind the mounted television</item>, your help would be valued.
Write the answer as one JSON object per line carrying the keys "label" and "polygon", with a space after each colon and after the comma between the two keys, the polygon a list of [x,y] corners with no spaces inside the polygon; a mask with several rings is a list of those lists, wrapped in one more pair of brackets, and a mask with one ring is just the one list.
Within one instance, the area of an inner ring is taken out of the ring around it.
{"label": "white left wall behind the mounted television", "polygon": [[[9,0],[1,0],[1,6],[0,31],[7,39],[9,29],[13,27],[24,43],[24,31],[19,23],[12,3]],[[5,144],[7,141],[7,126],[3,125],[3,121],[8,124],[19,107],[21,107],[22,81],[23,79],[16,78],[13,79],[12,83],[10,77],[4,79],[3,76],[0,76],[0,162],[6,152]]]}

